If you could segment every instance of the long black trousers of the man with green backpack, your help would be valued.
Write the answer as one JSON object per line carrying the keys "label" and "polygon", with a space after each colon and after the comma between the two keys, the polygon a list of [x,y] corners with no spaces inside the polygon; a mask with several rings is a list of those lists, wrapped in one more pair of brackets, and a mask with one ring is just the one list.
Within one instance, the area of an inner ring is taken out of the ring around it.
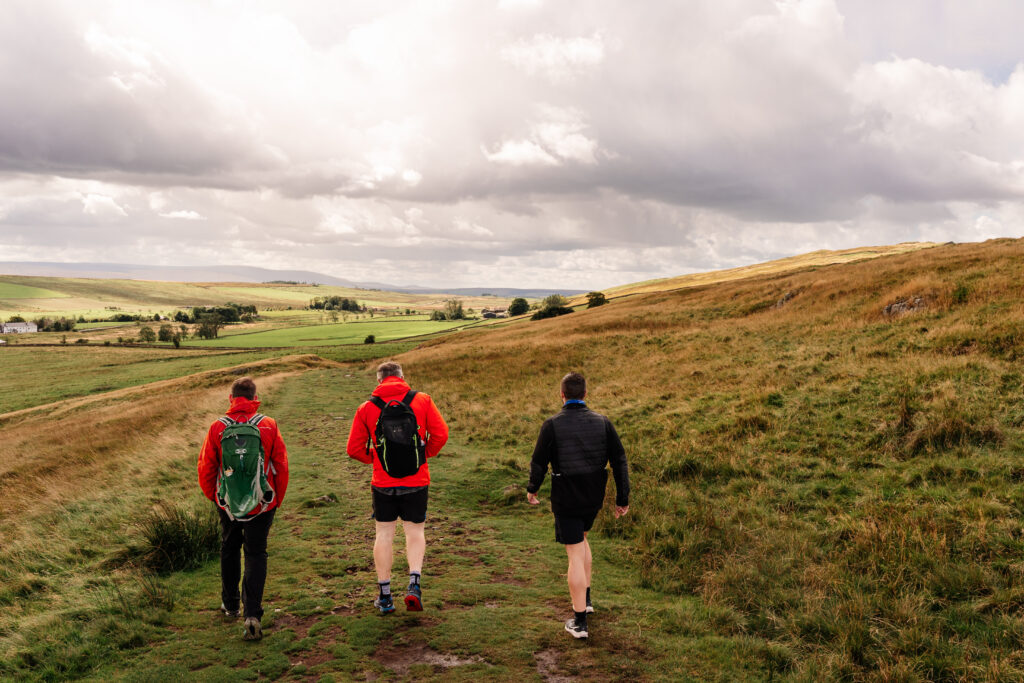
{"label": "long black trousers of the man with green backpack", "polygon": [[[267,510],[247,522],[220,515],[220,599],[228,609],[239,608],[239,581],[242,581],[244,616],[263,615],[263,586],[266,584],[266,537],[278,511]],[[245,549],[246,574],[242,575],[241,550]]]}

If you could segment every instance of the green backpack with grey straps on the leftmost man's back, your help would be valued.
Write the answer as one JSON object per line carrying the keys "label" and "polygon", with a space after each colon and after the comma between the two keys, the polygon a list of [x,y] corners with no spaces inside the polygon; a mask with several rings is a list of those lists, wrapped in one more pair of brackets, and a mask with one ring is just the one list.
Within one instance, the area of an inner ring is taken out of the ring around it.
{"label": "green backpack with grey straps on the leftmost man's back", "polygon": [[[237,521],[247,521],[249,513],[273,502],[273,487],[266,478],[263,464],[263,440],[259,423],[264,416],[254,415],[247,422],[220,418],[220,474],[217,475],[217,504]],[[263,510],[260,510],[262,512]]]}

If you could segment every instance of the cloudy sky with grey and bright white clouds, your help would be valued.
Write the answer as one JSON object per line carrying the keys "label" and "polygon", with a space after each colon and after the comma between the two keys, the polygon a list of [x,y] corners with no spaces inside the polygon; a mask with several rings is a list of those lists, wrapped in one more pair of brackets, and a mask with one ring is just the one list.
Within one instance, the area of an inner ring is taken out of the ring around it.
{"label": "cloudy sky with grey and bright white clouds", "polygon": [[1024,234],[1016,0],[5,0],[0,260],[612,285]]}

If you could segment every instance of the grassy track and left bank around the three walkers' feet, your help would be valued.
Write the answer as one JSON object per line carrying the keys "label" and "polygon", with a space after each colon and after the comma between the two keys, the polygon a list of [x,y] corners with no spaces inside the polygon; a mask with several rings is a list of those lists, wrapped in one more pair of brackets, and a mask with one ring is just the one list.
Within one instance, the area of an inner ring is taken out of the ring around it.
{"label": "grassy track and left bank around the three walkers' feet", "polygon": [[[764,671],[763,648],[721,642],[699,626],[695,600],[667,604],[640,586],[622,541],[599,546],[594,640],[565,637],[564,554],[550,542],[548,513],[508,489],[525,476],[517,459],[458,434],[431,466],[426,609],[382,618],[370,605],[369,468],[340,450],[372,375],[308,356],[238,370],[257,375],[291,460],[270,540],[264,640],[243,642],[239,623],[220,616],[209,552],[189,557],[186,570],[146,569],[154,520],[203,526],[208,514],[196,454],[238,373],[190,376],[25,414],[0,432],[16,463],[0,478],[11,482],[0,489],[0,677],[664,680]],[[400,583],[400,540],[397,550]],[[692,625],[686,643],[660,628],[667,617]]]}

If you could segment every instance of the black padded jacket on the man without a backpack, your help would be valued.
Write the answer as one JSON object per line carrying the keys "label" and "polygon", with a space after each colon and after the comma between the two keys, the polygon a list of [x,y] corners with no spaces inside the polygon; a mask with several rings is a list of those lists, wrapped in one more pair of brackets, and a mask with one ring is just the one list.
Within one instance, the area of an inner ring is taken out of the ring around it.
{"label": "black padded jacket on the man without a backpack", "polygon": [[536,494],[551,466],[551,509],[557,515],[588,516],[604,505],[607,466],[615,479],[615,505],[630,504],[626,451],[611,421],[584,403],[566,403],[545,420],[529,464],[526,490]]}

